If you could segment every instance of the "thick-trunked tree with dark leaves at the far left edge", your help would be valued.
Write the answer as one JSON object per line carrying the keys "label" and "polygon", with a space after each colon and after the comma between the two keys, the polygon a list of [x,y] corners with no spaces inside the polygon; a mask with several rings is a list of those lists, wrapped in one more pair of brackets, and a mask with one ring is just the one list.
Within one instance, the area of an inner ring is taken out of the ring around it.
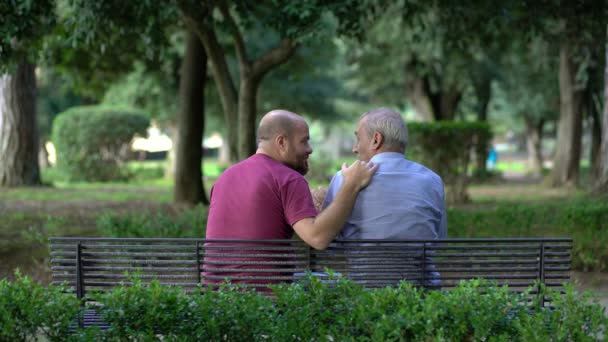
{"label": "thick-trunked tree with dark leaves at the far left edge", "polygon": [[35,63],[54,1],[0,3],[0,186],[40,184]]}

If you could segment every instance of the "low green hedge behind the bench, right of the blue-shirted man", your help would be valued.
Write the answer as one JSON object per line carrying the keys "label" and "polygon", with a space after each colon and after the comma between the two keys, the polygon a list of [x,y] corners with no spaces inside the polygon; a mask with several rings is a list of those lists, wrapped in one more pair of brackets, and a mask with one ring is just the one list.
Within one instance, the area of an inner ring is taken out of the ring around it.
{"label": "low green hedge behind the bench, right of the blue-shirted man", "polygon": [[571,236],[574,269],[608,270],[605,201],[510,203],[474,211],[452,208],[448,209],[448,226],[451,238]]}

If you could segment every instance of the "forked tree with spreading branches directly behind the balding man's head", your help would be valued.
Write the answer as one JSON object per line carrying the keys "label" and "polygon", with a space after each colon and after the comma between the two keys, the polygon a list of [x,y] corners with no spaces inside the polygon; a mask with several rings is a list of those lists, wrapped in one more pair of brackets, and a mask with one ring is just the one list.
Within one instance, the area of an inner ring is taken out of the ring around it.
{"label": "forked tree with spreading branches directly behind the balding man's head", "polygon": [[[257,93],[264,77],[293,56],[297,46],[323,30],[324,14],[339,20],[338,32],[360,32],[366,1],[258,2],[179,0],[190,30],[201,39],[211,61],[211,72],[221,97],[233,160],[244,159],[256,148]],[[268,42],[253,51],[251,33],[262,30]],[[220,40],[222,33],[230,39]],[[274,39],[272,39],[274,38]],[[227,51],[236,56],[238,79],[233,77]]]}

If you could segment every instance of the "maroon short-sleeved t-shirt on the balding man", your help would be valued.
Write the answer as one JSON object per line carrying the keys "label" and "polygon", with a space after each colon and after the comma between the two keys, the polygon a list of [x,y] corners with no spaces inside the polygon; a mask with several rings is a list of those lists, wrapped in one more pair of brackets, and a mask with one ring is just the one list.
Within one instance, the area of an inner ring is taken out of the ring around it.
{"label": "maroon short-sleeved t-shirt on the balding man", "polygon": [[[306,179],[264,154],[255,154],[226,170],[211,189],[206,238],[290,239],[294,223],[316,215]],[[215,246],[234,247],[221,251],[212,249]],[[264,248],[247,251],[245,246]],[[226,277],[237,283],[276,283],[281,280],[256,278],[280,278],[287,276],[288,269],[293,268],[284,263],[285,258],[268,256],[285,254],[277,245],[206,243],[205,247],[207,255],[203,276],[207,284],[222,282]],[[277,250],[267,250],[267,247]],[[222,253],[223,256],[209,256],[213,253]],[[244,257],[243,254],[266,256]],[[286,269],[281,272],[280,268]],[[269,269],[269,272],[238,272],[238,269]]]}

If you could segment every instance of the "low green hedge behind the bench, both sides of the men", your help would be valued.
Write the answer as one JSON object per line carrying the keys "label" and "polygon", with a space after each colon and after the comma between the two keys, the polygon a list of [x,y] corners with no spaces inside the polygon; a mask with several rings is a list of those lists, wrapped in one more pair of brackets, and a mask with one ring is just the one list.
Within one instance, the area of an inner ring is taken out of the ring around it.
{"label": "low green hedge behind the bench, both sides of the men", "polygon": [[[96,223],[106,237],[204,238],[206,222],[207,209],[199,206],[178,215],[106,213]],[[575,270],[608,271],[608,202],[601,199],[449,208],[448,236],[571,237]]]}

